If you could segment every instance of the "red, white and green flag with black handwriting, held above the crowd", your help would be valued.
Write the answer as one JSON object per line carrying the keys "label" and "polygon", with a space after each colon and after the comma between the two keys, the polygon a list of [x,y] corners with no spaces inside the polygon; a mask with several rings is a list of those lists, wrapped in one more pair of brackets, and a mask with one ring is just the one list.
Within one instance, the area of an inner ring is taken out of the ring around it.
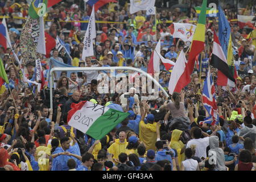
{"label": "red, white and green flag with black handwriting, held above the crowd", "polygon": [[71,108],[68,112],[68,125],[95,139],[103,138],[129,115],[89,101],[73,103]]}

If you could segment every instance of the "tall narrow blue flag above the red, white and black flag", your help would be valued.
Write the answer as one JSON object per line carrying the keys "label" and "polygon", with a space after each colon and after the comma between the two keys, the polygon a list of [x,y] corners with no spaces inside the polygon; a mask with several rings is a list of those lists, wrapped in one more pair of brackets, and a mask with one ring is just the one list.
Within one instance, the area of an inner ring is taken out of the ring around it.
{"label": "tall narrow blue flag above the red, white and black flag", "polygon": [[218,40],[220,40],[220,44],[226,58],[228,55],[230,32],[231,28],[229,22],[226,19],[226,16],[224,14],[224,11],[221,9],[221,6],[218,5]]}

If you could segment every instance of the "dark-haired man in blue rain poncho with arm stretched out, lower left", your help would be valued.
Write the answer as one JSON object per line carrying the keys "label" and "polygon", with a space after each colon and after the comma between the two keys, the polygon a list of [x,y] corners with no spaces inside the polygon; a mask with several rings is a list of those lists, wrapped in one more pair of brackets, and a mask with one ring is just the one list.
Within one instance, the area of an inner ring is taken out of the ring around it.
{"label": "dark-haired man in blue rain poncho with arm stretched out, lower left", "polygon": [[[63,137],[60,139],[61,147],[57,147],[53,152],[52,157],[52,171],[68,171],[68,159],[74,159],[76,165],[81,165],[81,153],[79,144],[72,137],[74,145],[70,145],[69,137]],[[54,158],[55,157],[55,158]],[[76,166],[76,168],[77,168]]]}

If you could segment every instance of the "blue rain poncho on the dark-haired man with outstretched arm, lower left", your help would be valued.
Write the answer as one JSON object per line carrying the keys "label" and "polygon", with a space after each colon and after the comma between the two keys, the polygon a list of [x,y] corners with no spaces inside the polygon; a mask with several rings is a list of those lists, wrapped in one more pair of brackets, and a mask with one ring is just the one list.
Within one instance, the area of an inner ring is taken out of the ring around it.
{"label": "blue rain poncho on the dark-haired man with outstretched arm, lower left", "polygon": [[[56,150],[52,154],[57,154],[60,152],[64,152],[64,150],[61,147],[57,147]],[[80,155],[80,149],[79,149],[79,144],[75,143],[74,146],[70,146],[67,152],[70,152],[72,154]],[[77,166],[81,164],[81,161],[74,156],[71,155],[59,155],[56,158],[52,160],[52,171],[68,171],[68,166],[67,162],[68,159],[74,159],[76,161]]]}

